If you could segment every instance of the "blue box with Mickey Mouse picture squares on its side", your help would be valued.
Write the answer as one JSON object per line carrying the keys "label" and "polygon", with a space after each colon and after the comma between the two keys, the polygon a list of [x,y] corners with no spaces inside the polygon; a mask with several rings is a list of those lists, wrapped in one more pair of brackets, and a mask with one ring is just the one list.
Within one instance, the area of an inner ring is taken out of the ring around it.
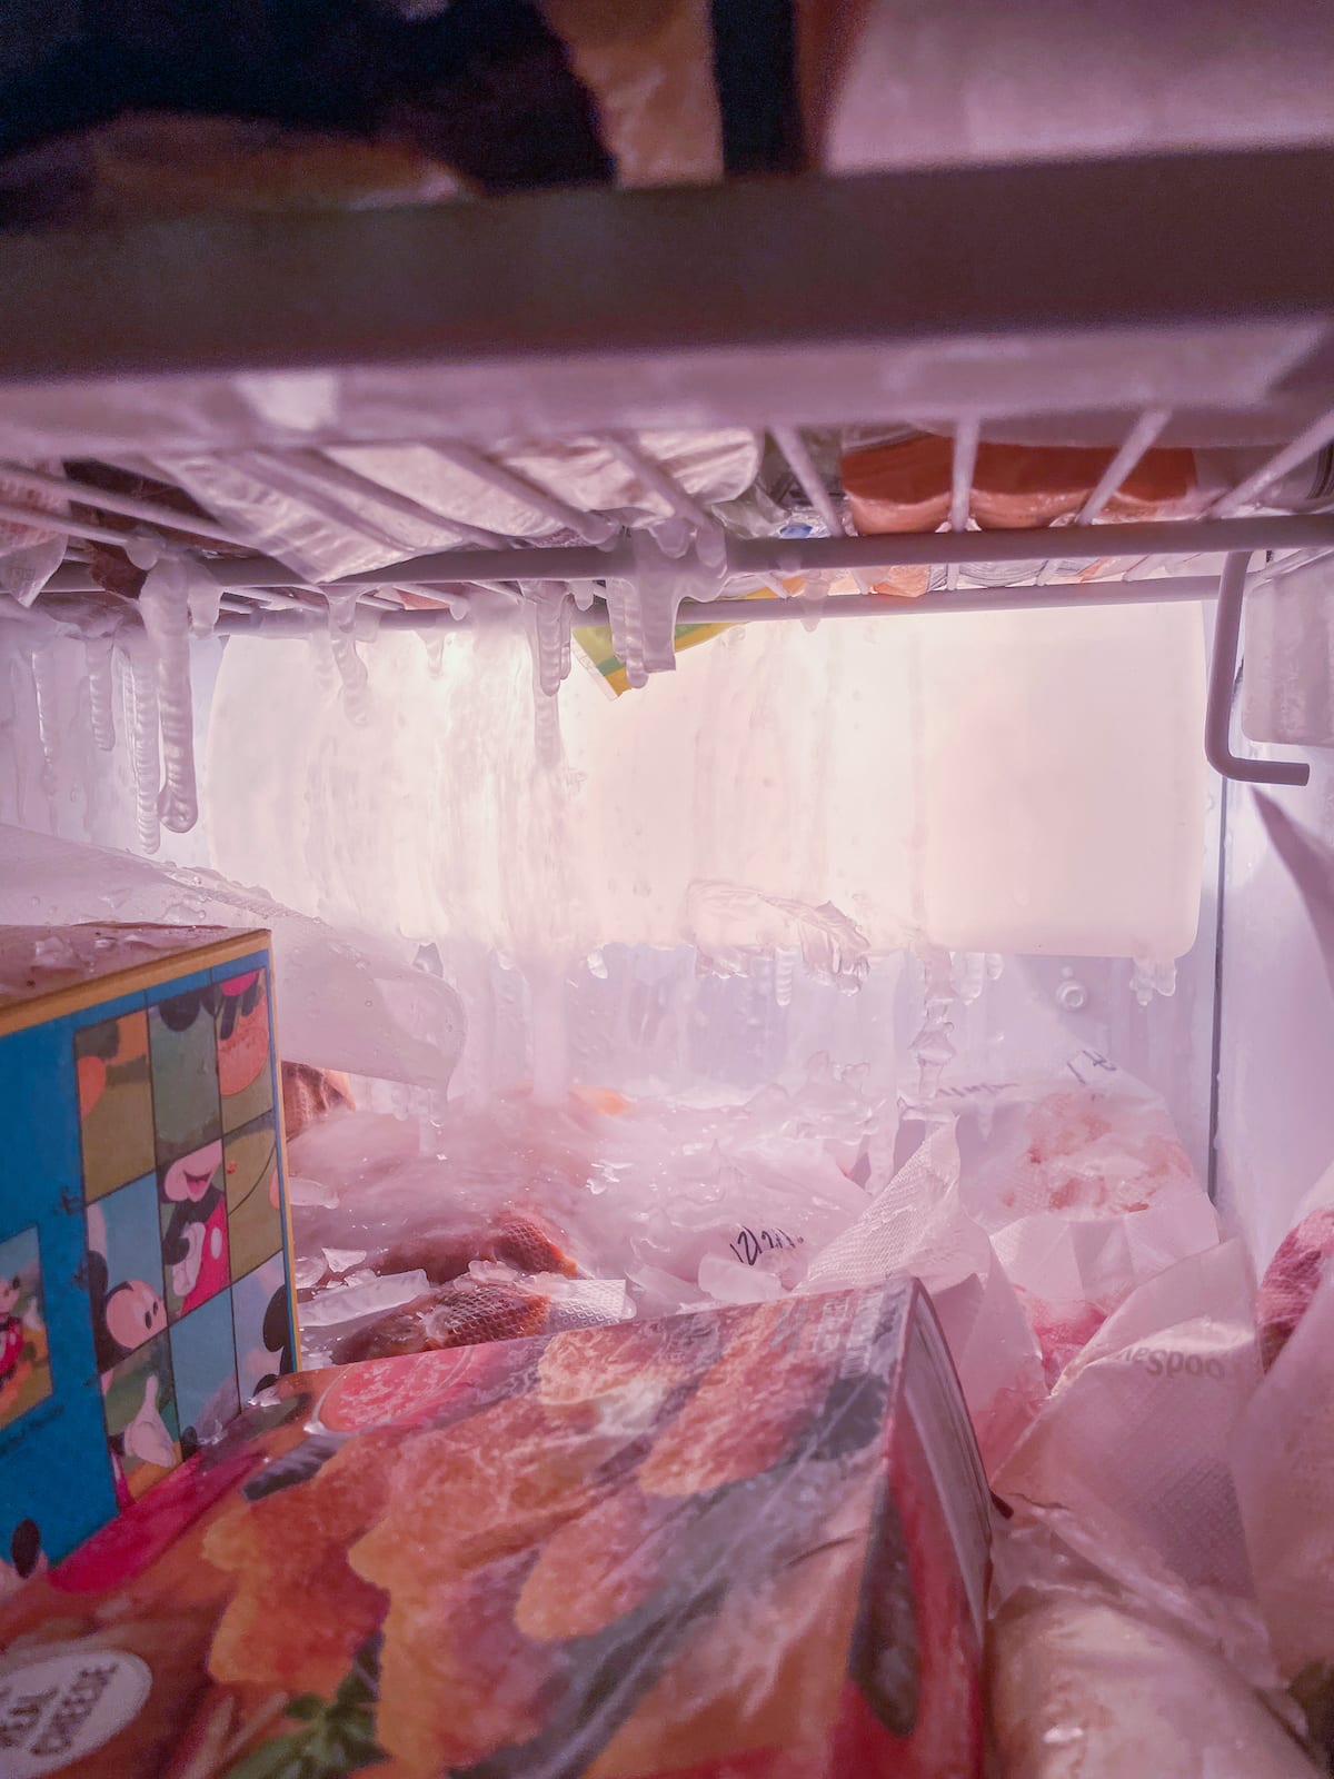
{"label": "blue box with Mickey Mouse picture squares on its side", "polygon": [[293,1366],[267,932],[0,929],[0,1598]]}

